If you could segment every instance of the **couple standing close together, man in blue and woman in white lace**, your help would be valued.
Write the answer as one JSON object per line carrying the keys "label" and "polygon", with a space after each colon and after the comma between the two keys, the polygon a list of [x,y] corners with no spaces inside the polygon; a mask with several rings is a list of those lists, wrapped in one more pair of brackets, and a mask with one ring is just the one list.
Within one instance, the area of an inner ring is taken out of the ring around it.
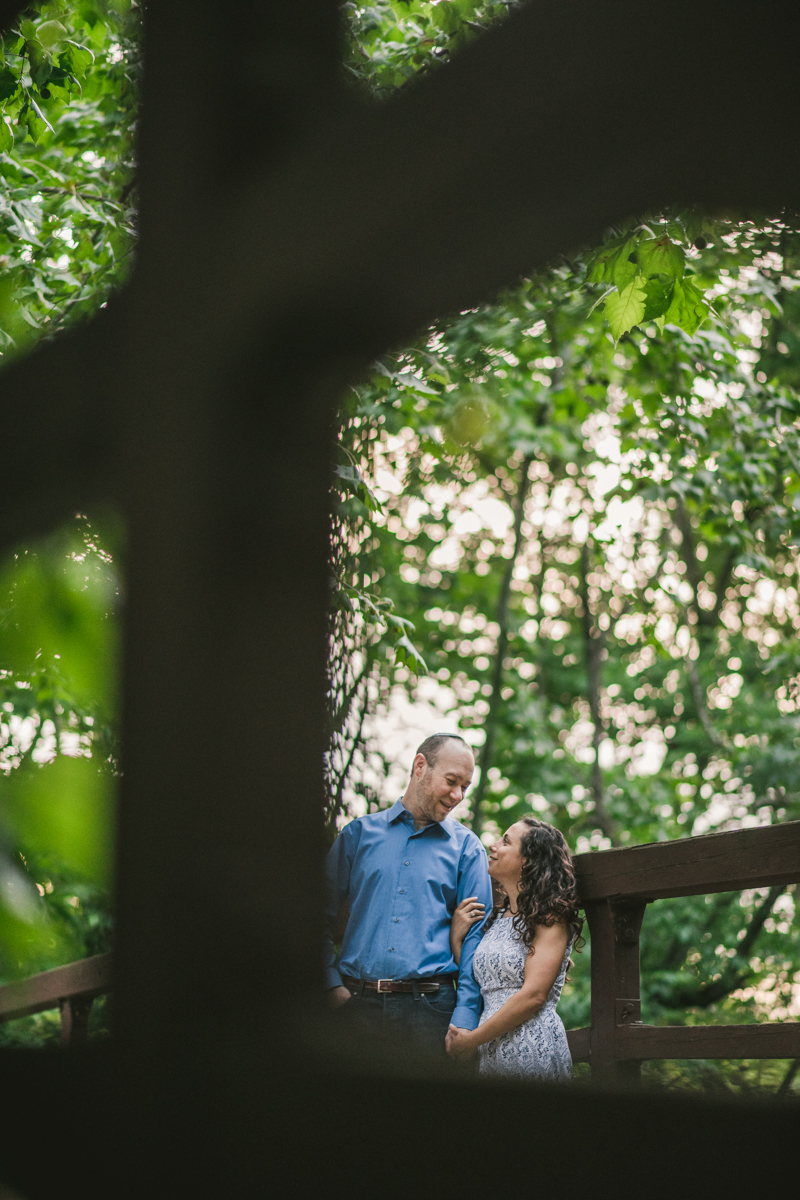
{"label": "couple standing close together, man in blue and woman in white lace", "polygon": [[[396,1030],[456,1060],[477,1054],[487,1075],[569,1079],[555,1004],[583,926],[570,852],[558,829],[523,817],[492,846],[487,871],[479,839],[450,816],[474,769],[463,738],[427,738],[397,804],[351,821],[335,841],[329,1000],[361,1030]],[[489,876],[501,895],[494,906]]]}

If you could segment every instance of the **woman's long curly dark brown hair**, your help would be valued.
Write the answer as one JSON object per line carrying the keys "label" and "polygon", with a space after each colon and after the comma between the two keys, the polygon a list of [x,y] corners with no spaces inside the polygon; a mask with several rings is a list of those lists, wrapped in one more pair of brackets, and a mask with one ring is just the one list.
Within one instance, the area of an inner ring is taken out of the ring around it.
{"label": "woman's long curly dark brown hair", "polygon": [[[511,917],[523,944],[530,950],[537,925],[565,924],[572,929],[576,949],[584,944],[581,936],[583,917],[572,869],[570,847],[564,834],[546,821],[523,817],[528,829],[522,835],[522,877],[517,892],[517,911]],[[486,928],[509,907],[509,898],[494,910]]]}

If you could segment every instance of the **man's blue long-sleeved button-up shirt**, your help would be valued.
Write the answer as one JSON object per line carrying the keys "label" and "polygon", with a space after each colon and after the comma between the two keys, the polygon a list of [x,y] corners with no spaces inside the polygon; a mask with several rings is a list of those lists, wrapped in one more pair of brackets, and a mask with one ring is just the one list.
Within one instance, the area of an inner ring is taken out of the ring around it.
{"label": "man's blue long-sleeved button-up shirt", "polygon": [[[414,829],[402,800],[383,812],[344,827],[326,863],[325,982],[426,979],[458,971],[458,1002],[452,1024],[474,1030],[481,994],[473,955],[482,923],[462,947],[461,968],[450,952],[450,922],[464,896],[477,896],[492,911],[492,888],[483,846],[469,829],[445,817]],[[344,901],[350,914],[336,959],[331,931]]]}

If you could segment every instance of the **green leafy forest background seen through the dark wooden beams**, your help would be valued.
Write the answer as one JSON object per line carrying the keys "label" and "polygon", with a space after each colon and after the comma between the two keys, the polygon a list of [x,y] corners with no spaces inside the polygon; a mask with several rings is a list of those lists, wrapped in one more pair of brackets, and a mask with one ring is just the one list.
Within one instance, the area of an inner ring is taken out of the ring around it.
{"label": "green leafy forest background seen through the dark wooden beams", "polygon": [[[355,102],[391,103],[513,7],[345,4]],[[85,319],[131,269],[139,32],[136,4],[73,0],[31,6],[6,37],[5,358]],[[409,703],[475,748],[463,820],[485,841],[531,811],[578,851],[800,816],[799,224],[634,215],[421,331],[345,397],[331,835],[396,799],[408,764],[386,731]],[[2,979],[112,944],[124,552],[113,514],[79,514],[0,576]],[[794,900],[652,906],[644,1019],[798,1019]],[[588,1022],[589,955],[567,1027]],[[107,1033],[103,1006],[92,1021]],[[55,1022],[0,1039],[52,1040]],[[774,1092],[796,1087],[787,1068],[648,1072]]]}

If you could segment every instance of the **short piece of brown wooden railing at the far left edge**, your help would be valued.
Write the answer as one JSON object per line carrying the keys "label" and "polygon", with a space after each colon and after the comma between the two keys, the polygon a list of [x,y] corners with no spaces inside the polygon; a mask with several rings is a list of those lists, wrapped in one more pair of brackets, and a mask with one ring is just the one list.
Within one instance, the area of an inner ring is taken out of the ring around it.
{"label": "short piece of brown wooden railing at the far left edge", "polygon": [[83,1044],[95,997],[112,989],[112,954],[95,954],[91,959],[4,984],[0,986],[0,1021],[59,1008],[61,1045]]}

